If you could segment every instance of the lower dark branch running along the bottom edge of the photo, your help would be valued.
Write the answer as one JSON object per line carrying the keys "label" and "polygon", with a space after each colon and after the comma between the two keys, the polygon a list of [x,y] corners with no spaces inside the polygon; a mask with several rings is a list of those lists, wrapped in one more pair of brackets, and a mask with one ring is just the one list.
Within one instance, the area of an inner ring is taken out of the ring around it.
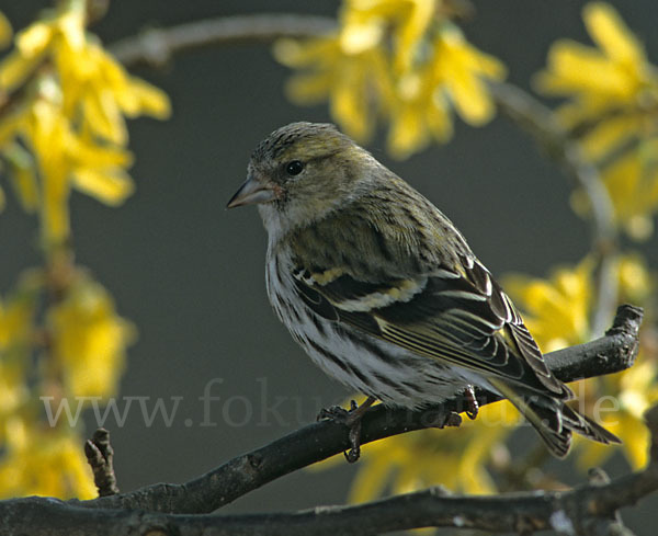
{"label": "lower dark branch running along the bottom edge of the photo", "polygon": [[27,498],[0,503],[0,529],[5,536],[362,536],[433,526],[525,535],[544,529],[585,536],[628,535],[619,520],[619,509],[658,490],[658,406],[645,419],[651,432],[646,469],[613,481],[594,471],[588,484],[567,491],[451,495],[438,487],[353,506],[222,516],[90,511],[53,499]]}

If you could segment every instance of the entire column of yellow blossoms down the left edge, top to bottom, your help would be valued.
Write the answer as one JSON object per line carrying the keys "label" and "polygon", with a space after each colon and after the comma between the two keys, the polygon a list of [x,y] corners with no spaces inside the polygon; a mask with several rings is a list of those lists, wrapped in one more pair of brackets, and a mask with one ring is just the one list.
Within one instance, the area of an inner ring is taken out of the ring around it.
{"label": "entire column of yellow blossoms down the left edge, top to bottom", "polygon": [[135,337],[73,264],[69,196],[122,203],[134,189],[125,117],[164,118],[169,101],[87,31],[88,8],[60,0],[15,35],[0,15],[0,45],[14,43],[0,61],[0,168],[36,214],[44,254],[0,299],[0,497],[94,495],[83,431],[45,419],[39,397],[59,407],[114,396]]}

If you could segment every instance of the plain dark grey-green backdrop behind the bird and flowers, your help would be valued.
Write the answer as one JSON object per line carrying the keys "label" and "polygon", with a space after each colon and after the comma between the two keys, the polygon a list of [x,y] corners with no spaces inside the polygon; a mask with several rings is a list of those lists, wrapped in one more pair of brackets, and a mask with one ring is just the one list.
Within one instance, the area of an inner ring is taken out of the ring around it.
{"label": "plain dark grey-green backdrop behind the bird and flowers", "polygon": [[[649,56],[658,60],[655,2],[615,3]],[[524,88],[544,65],[556,37],[587,42],[580,20],[583,2],[475,4],[477,16],[465,25],[466,35],[501,58],[509,79]],[[43,5],[47,2],[5,0],[0,9],[22,27]],[[149,24],[263,10],[333,14],[337,5],[114,1],[94,31],[112,43]],[[265,233],[256,209],[224,208],[245,178],[251,149],[264,135],[292,121],[329,121],[326,107],[300,109],[286,102],[282,87],[287,71],[260,45],[195,52],[177,57],[163,70],[136,73],[164,89],[174,110],[167,123],[129,124],[131,147],[137,156],[132,170],[136,194],[118,209],[80,194],[72,197],[79,263],[91,267],[120,312],[139,329],[121,396],[168,401],[183,397],[171,426],[161,420],[146,426],[138,408],[123,427],[107,423],[123,490],[185,481],[310,422],[320,404],[337,403],[348,395],[315,368],[270,309],[263,281]],[[438,204],[495,274],[545,275],[551,266],[576,262],[587,251],[587,227],[567,205],[567,180],[503,118],[479,129],[457,121],[451,144],[431,146],[404,162],[386,156],[383,137],[368,148]],[[0,292],[7,292],[19,271],[38,263],[35,243],[34,220],[10,198],[0,216]],[[644,249],[655,265],[655,240]],[[213,394],[222,397],[212,406],[211,419],[217,426],[200,426],[204,415],[198,397],[213,378],[223,381],[213,386]],[[263,404],[275,403],[277,397],[283,397],[282,422],[272,415],[263,419]],[[249,408],[251,418],[245,413]],[[191,426],[185,426],[185,419]],[[91,431],[94,424],[88,421]],[[521,434],[520,441],[533,440]],[[227,510],[339,503],[355,470],[358,466],[339,464],[330,472],[300,471]],[[623,470],[617,463],[612,472]],[[642,509],[645,515],[650,503]],[[658,505],[656,500],[653,504]],[[638,523],[635,515],[631,524],[638,529]]]}

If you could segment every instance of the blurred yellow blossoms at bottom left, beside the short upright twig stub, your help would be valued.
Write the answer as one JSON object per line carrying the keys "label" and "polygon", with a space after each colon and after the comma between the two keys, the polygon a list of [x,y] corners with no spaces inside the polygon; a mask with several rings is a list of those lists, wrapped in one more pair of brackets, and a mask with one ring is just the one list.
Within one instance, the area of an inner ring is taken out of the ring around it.
{"label": "blurred yellow blossoms at bottom left, beside the short upright twig stub", "polygon": [[11,441],[0,460],[0,497],[97,495],[80,438],[70,429],[42,429],[20,418],[12,419],[7,427]]}

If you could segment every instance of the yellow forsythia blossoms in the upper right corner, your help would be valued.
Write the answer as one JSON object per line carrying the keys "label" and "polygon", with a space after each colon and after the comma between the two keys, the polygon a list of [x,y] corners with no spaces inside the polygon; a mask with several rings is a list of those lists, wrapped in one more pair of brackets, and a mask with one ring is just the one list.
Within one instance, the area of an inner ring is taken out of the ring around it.
{"label": "yellow forsythia blossoms in the upper right corner", "polygon": [[[658,71],[612,7],[590,3],[583,19],[598,48],[557,42],[537,87],[570,98],[558,116],[600,163],[617,221],[644,239],[658,209]],[[575,208],[588,210],[581,194]]]}

